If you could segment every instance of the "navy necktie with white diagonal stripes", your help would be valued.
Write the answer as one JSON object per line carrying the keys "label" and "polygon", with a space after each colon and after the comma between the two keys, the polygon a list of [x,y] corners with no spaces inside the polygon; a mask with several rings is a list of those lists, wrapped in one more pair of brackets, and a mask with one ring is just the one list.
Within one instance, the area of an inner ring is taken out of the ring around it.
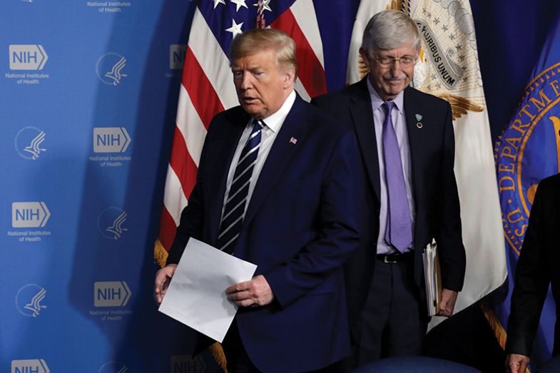
{"label": "navy necktie with white diagonal stripes", "polygon": [[247,204],[251,175],[253,175],[253,168],[260,147],[260,132],[265,126],[263,121],[253,120],[253,123],[255,123],[253,131],[251,131],[247,143],[241,150],[238,164],[235,166],[230,192],[228,193],[228,199],[225,201],[225,209],[220,223],[220,233],[218,233],[216,247],[230,254],[233,252],[245,217],[245,205]]}

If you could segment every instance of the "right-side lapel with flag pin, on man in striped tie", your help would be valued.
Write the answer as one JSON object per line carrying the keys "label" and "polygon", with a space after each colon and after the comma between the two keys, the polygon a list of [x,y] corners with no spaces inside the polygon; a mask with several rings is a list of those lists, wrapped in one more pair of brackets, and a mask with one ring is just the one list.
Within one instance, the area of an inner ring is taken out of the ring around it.
{"label": "right-side lapel with flag pin, on man in striped tie", "polygon": [[[300,96],[297,96],[290,113],[288,113],[282,128],[280,128],[280,132],[278,132],[274,140],[272,148],[270,148],[270,153],[268,153],[263,169],[260,171],[257,184],[245,213],[245,218],[243,219],[244,228],[255,217],[255,213],[272,190],[278,177],[282,175],[282,171],[292,158],[297,146],[302,146],[300,144],[305,143],[305,133],[307,133],[308,125],[305,118],[305,105]],[[290,138],[292,137],[297,138],[297,145],[290,143]]]}

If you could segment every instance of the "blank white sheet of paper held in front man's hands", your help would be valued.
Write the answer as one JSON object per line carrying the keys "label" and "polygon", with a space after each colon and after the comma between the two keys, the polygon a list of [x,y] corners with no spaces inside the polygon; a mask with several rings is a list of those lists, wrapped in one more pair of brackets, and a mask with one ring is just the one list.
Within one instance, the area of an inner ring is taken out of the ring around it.
{"label": "blank white sheet of paper held in front man's hands", "polygon": [[159,311],[222,342],[238,306],[225,288],[253,277],[257,266],[190,238]]}

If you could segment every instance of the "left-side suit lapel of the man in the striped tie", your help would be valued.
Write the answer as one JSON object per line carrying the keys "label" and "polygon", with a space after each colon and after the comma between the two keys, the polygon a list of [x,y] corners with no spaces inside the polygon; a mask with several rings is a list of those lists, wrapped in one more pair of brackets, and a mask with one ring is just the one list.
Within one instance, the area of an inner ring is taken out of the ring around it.
{"label": "left-side suit lapel of the man in the striped tie", "polygon": [[207,167],[214,168],[213,178],[216,183],[210,183],[210,235],[212,242],[218,240],[218,230],[220,230],[220,220],[222,218],[223,198],[225,195],[225,184],[228,180],[228,173],[230,170],[233,154],[238,146],[241,134],[245,126],[249,122],[250,116],[245,111],[240,110],[242,113],[232,113],[232,115],[225,116],[225,131],[220,134],[218,146],[218,159],[214,160],[213,164]]}

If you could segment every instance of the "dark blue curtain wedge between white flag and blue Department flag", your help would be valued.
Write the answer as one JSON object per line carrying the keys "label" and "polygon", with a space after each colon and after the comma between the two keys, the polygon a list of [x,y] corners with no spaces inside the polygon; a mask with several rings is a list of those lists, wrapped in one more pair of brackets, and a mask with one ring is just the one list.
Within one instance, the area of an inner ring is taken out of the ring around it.
{"label": "dark blue curtain wedge between white flag and blue Department flag", "polygon": [[555,0],[471,0],[492,139],[509,123],[560,9]]}

